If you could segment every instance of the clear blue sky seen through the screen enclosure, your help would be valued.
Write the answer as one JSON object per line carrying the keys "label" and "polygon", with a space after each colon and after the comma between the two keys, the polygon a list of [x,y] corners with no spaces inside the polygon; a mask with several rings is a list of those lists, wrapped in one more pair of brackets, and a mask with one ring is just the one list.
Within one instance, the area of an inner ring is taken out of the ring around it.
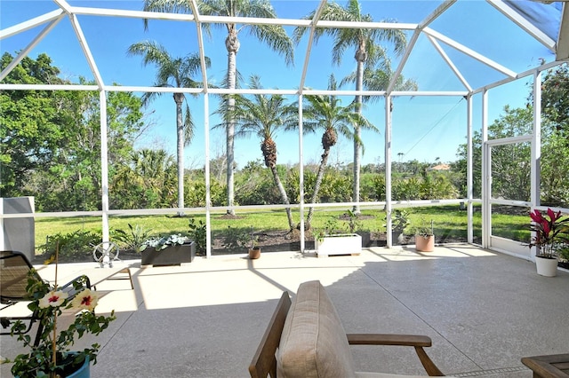
{"label": "clear blue sky seen through the screen enclosure", "polygon": [[[340,2],[343,4],[343,2]],[[373,20],[394,19],[399,22],[419,22],[437,8],[440,1],[361,1],[363,12],[370,13]],[[69,1],[74,6],[102,7],[141,10],[141,1]],[[299,19],[315,9],[317,1],[274,1],[276,13],[281,18]],[[2,0],[0,2],[0,27],[8,28],[22,21],[51,12],[57,6],[50,0]],[[78,16],[87,43],[105,83],[151,86],[155,67],[142,67],[140,57],[127,57],[126,50],[132,43],[155,40],[162,43],[173,56],[184,56],[197,51],[196,28],[193,23],[180,21],[150,20],[147,31],[142,20],[115,17]],[[507,20],[500,12],[482,0],[460,0],[431,26],[439,33],[451,36],[457,42],[481,52],[514,71],[523,72],[538,64],[539,59],[552,60],[553,55],[540,43],[525,35],[520,28]],[[11,52],[24,48],[41,28],[33,28],[20,35],[0,41],[0,51]],[[289,34],[292,28],[286,29]],[[227,51],[224,46],[225,29],[212,28],[212,37],[204,41],[205,54],[212,59],[208,77],[212,83],[220,83],[227,68]],[[408,39],[411,34],[408,35]],[[265,88],[294,89],[300,83],[301,69],[306,52],[307,38],[295,49],[293,67],[287,67],[282,59],[268,47],[253,39],[244,30],[239,35],[241,49],[237,53],[237,69],[245,80],[249,75],[260,75]],[[443,45],[443,43],[441,43]],[[334,73],[341,80],[356,68],[354,51],[346,51],[340,66],[332,65],[331,40],[323,37],[314,46],[310,57],[306,85],[314,89],[326,89],[328,76]],[[491,68],[474,61],[461,52],[444,46],[445,52],[474,88],[500,80],[504,76]],[[62,77],[74,82],[79,76],[92,80],[86,59],[77,43],[70,22],[65,19],[39,43],[32,57],[45,52],[60,68]],[[392,58],[397,67],[399,58]],[[403,74],[413,78],[420,91],[462,91],[459,80],[445,65],[433,45],[421,36],[410,56]],[[345,89],[353,89],[346,87]],[[529,93],[527,80],[509,84],[500,90],[490,91],[490,119],[496,118],[504,105],[523,106]],[[480,103],[480,96],[475,104]],[[345,97],[351,101],[351,97]],[[196,121],[196,138],[186,148],[186,167],[197,168],[204,164],[203,99],[188,98]],[[295,98],[291,97],[291,101]],[[211,112],[216,101],[210,101]],[[365,115],[380,133],[366,132],[364,163],[384,161],[384,103],[379,100],[365,109]],[[163,146],[175,153],[175,114],[170,94],[154,101],[148,112],[154,111],[151,120],[155,124],[148,136],[140,140],[140,146]],[[480,127],[479,110],[475,108],[475,127]],[[211,119],[211,124],[217,120]],[[466,101],[458,97],[401,97],[394,99],[393,112],[393,159],[403,161],[454,161],[457,147],[466,136]],[[224,133],[213,130],[211,136],[212,158],[222,153]],[[298,135],[288,133],[276,137],[279,163],[298,161]],[[316,162],[321,154],[320,135],[309,137],[304,142],[304,161]],[[405,154],[399,156],[397,154]],[[331,155],[331,162],[352,161],[352,145],[341,140]],[[239,168],[247,161],[260,159],[259,141],[236,140],[236,162]]]}

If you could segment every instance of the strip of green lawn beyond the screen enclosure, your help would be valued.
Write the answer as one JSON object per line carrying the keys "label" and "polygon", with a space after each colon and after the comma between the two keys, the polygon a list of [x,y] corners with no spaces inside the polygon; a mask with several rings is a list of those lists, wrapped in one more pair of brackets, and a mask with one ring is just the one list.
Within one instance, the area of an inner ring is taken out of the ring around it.
{"label": "strip of green lawn beyond the screen enclosure", "polygon": [[[413,233],[414,225],[424,222],[430,224],[432,219],[434,231],[438,240],[466,240],[467,237],[467,212],[459,209],[458,205],[429,206],[405,209],[409,213],[411,225],[405,229],[405,233]],[[227,232],[228,227],[239,232],[274,232],[286,231],[287,220],[283,209],[238,211],[235,219],[224,217],[223,213],[212,214],[212,236],[220,237]],[[306,213],[305,213],[306,216]],[[172,216],[145,216],[145,217],[109,217],[111,240],[113,230],[129,230],[128,224],[140,226],[151,230],[152,235],[164,235],[171,233],[188,233],[188,220],[195,218],[196,221],[205,221],[204,215],[191,215],[188,217]],[[349,231],[349,216],[347,209],[320,209],[315,210],[312,221],[312,229],[321,230],[331,219],[338,231]],[[298,211],[293,211],[293,220],[299,223]],[[362,209],[361,217],[355,219],[357,231],[385,232],[385,212],[383,209]],[[523,215],[493,215],[493,234],[505,238],[527,241],[529,231],[527,224],[529,217]],[[481,214],[480,208],[475,207],[474,234],[480,236]],[[45,243],[46,237],[57,233],[65,234],[75,231],[101,232],[100,217],[72,217],[72,218],[37,218],[36,219],[36,253],[42,253],[40,248]]]}

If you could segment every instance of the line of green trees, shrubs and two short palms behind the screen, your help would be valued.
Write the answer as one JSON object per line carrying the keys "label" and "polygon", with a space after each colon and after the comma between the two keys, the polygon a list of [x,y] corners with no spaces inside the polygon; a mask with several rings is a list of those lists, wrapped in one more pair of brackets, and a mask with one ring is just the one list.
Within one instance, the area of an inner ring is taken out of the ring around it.
{"label": "line of green trees, shrubs and two short palms behind the screen", "polygon": [[[5,53],[2,67],[12,60]],[[543,80],[543,124],[541,193],[543,204],[567,206],[569,171],[567,138],[568,108],[565,91],[569,83],[566,66],[550,71]],[[6,78],[7,83],[66,83],[51,59],[22,59]],[[252,77],[252,87],[260,87]],[[87,83],[80,79],[81,83]],[[335,80],[330,77],[330,88]],[[561,85],[560,85],[561,83]],[[317,202],[351,201],[353,163],[327,163],[337,133],[353,135],[351,122],[359,117],[353,104],[340,106],[334,96],[307,100],[307,132],[322,131],[323,155],[319,164],[305,167],[306,198]],[[274,133],[293,114],[290,105],[276,95],[235,97],[234,118],[238,133],[254,134],[262,142],[262,160],[249,161],[236,170],[235,202],[239,205],[298,203],[298,166],[276,163]],[[533,108],[507,106],[489,127],[490,138],[530,133]],[[280,104],[280,106],[276,106]],[[564,105],[565,104],[565,105]],[[271,114],[268,109],[280,109]],[[97,92],[91,91],[3,91],[0,93],[0,191],[3,197],[33,195],[38,211],[96,210],[100,204],[100,109]],[[135,148],[134,142],[148,127],[148,104],[129,92],[108,92],[108,162],[111,209],[175,208],[178,205],[179,164],[161,149]],[[275,119],[281,120],[276,124]],[[362,125],[366,125],[363,120]],[[481,188],[481,135],[474,135],[475,197]],[[431,169],[435,162],[393,163],[392,195],[395,200],[461,198],[466,196],[466,145],[459,148],[457,161],[449,170]],[[225,161],[226,156],[219,159]],[[529,144],[504,146],[493,155],[494,197],[529,201]],[[216,163],[215,160],[212,164]],[[368,164],[361,168],[361,201],[385,200],[385,167]],[[205,205],[204,169],[183,171],[184,201],[188,207]],[[212,177],[213,206],[227,206],[226,177]],[[293,220],[290,221],[293,224]],[[289,224],[289,225],[291,225]]]}

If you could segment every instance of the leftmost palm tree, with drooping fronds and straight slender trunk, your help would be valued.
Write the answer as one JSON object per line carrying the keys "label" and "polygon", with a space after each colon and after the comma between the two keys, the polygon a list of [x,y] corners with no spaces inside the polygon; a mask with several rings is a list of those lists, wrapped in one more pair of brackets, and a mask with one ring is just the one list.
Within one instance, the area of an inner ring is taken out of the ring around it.
{"label": "leftmost palm tree, with drooping fronds and straight slender trunk", "polygon": [[[156,72],[156,87],[172,88],[197,88],[201,85],[195,82],[192,77],[197,75],[201,69],[199,55],[194,53],[183,58],[174,58],[164,49],[164,46],[151,41],[133,43],[127,51],[128,55],[140,55],[143,57],[144,66],[149,63],[155,64],[158,68]],[[205,57],[205,64],[210,66],[210,59]],[[143,102],[162,92],[148,92],[143,96]],[[186,101],[186,114],[182,118],[182,103],[186,99],[183,92],[173,94],[176,103],[176,140],[177,140],[177,159],[178,159],[178,215],[182,216],[181,209],[184,208],[184,146],[188,146],[194,137],[194,122],[192,122],[189,112],[188,101]]]}

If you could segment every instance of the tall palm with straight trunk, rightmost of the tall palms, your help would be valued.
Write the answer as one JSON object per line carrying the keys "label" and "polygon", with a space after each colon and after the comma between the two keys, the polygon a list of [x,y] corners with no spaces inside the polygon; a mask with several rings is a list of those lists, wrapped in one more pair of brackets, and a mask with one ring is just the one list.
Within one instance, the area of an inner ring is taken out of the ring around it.
{"label": "tall palm with straight trunk, rightmost of the tall palms", "polygon": [[[312,20],[316,11],[311,12],[306,19]],[[362,14],[358,0],[349,0],[346,7],[340,4],[327,3],[320,14],[320,20],[337,20],[350,22],[373,22],[370,14]],[[293,38],[296,43],[301,40],[306,28],[295,28]],[[344,52],[350,48],[356,48],[354,58],[357,61],[357,81],[356,91],[361,91],[364,86],[364,65],[375,66],[379,59],[386,56],[385,50],[379,44],[381,41],[394,43],[394,51],[401,54],[406,45],[405,34],[401,30],[394,29],[366,29],[366,28],[317,28],[315,30],[315,40],[322,35],[333,37],[333,63],[340,64]],[[362,96],[356,96],[357,113],[361,114]],[[354,187],[353,199],[356,202],[354,212],[359,212],[359,170],[360,170],[360,129],[354,125]]]}

